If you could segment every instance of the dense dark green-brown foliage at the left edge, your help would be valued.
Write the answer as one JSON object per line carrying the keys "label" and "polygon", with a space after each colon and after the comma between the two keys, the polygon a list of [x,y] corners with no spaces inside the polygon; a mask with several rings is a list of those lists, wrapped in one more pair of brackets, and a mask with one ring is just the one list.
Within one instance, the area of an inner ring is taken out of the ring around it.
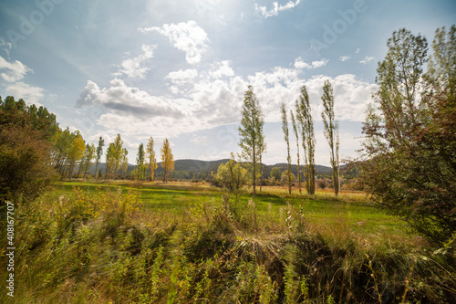
{"label": "dense dark green-brown foliage at the left edge", "polygon": [[51,163],[54,114],[26,106],[24,100],[0,98],[0,201],[35,198],[56,180]]}

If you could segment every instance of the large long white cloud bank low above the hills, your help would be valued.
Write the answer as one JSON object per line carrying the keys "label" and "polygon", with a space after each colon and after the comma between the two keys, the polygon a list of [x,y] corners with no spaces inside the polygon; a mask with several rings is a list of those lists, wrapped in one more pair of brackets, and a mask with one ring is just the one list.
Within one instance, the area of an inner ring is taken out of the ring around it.
{"label": "large long white cloud bank low above the hills", "polygon": [[[294,109],[300,89],[306,85],[315,121],[321,120],[321,95],[326,79],[334,88],[336,116],[339,121],[364,121],[365,112],[375,84],[357,79],[354,75],[339,75],[336,78],[314,76],[300,78],[303,62],[296,58],[297,67],[275,67],[254,73],[246,78],[236,76],[229,63],[217,62],[207,72],[195,69],[180,69],[171,72],[169,79],[176,95],[153,96],[149,92],[129,87],[121,79],[111,80],[106,88],[99,88],[93,81],[78,99],[78,106],[101,106],[108,112],[97,123],[104,128],[126,134],[150,133],[154,136],[172,137],[191,131],[202,131],[218,126],[239,123],[248,85],[264,113],[266,122],[280,121],[280,103],[285,101],[288,109]],[[316,61],[309,67],[320,67],[327,60]],[[185,85],[184,90],[182,86]],[[202,144],[202,139],[193,139]]]}

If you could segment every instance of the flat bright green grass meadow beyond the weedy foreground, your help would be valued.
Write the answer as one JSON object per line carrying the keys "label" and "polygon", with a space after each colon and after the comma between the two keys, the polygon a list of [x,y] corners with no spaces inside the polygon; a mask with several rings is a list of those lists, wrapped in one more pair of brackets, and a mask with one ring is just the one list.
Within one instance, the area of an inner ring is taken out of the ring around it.
{"label": "flat bright green grass meadow beyond the weedy foreground", "polygon": [[[140,201],[151,211],[169,212],[182,215],[185,210],[201,203],[221,204],[223,192],[208,184],[196,183],[87,183],[65,182],[57,189],[70,194],[73,187],[81,190],[97,192],[99,188],[109,187],[113,191],[119,188],[122,193],[137,193]],[[409,227],[397,216],[387,215],[368,203],[366,194],[359,192],[342,192],[336,197],[329,191],[317,191],[309,197],[294,189],[292,195],[281,187],[264,187],[254,197],[244,189],[239,195],[239,204],[248,204],[252,199],[260,220],[272,220],[280,223],[285,220],[284,207],[288,202],[299,207],[312,225],[325,226],[328,230],[340,225],[363,236],[410,236]],[[231,200],[234,200],[233,194]]]}

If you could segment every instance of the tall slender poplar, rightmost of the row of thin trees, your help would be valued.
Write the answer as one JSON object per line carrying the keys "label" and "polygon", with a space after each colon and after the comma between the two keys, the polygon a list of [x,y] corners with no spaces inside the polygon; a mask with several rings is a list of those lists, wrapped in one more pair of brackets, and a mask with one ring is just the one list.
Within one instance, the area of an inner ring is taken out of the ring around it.
{"label": "tall slender poplar, rightmost of the row of thin trees", "polygon": [[325,110],[321,113],[323,119],[323,124],[325,125],[325,137],[326,141],[329,144],[329,162],[331,163],[331,168],[333,169],[333,184],[334,184],[334,194],[339,192],[339,136],[338,136],[338,125],[335,121],[336,117],[334,115],[334,95],[333,87],[329,80],[325,81],[323,86],[323,107]]}

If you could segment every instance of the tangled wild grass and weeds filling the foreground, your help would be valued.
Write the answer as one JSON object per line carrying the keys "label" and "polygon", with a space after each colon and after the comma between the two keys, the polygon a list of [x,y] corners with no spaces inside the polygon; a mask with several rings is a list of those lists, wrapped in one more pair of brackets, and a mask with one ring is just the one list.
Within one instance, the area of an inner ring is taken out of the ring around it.
{"label": "tangled wild grass and weeds filling the foreground", "polygon": [[[287,204],[202,200],[181,215],[109,188],[54,192],[16,210],[15,299],[2,303],[445,303],[451,248],[325,229]],[[2,253],[5,268],[5,252]],[[2,279],[5,275],[2,274]],[[5,281],[5,280],[4,280]]]}

